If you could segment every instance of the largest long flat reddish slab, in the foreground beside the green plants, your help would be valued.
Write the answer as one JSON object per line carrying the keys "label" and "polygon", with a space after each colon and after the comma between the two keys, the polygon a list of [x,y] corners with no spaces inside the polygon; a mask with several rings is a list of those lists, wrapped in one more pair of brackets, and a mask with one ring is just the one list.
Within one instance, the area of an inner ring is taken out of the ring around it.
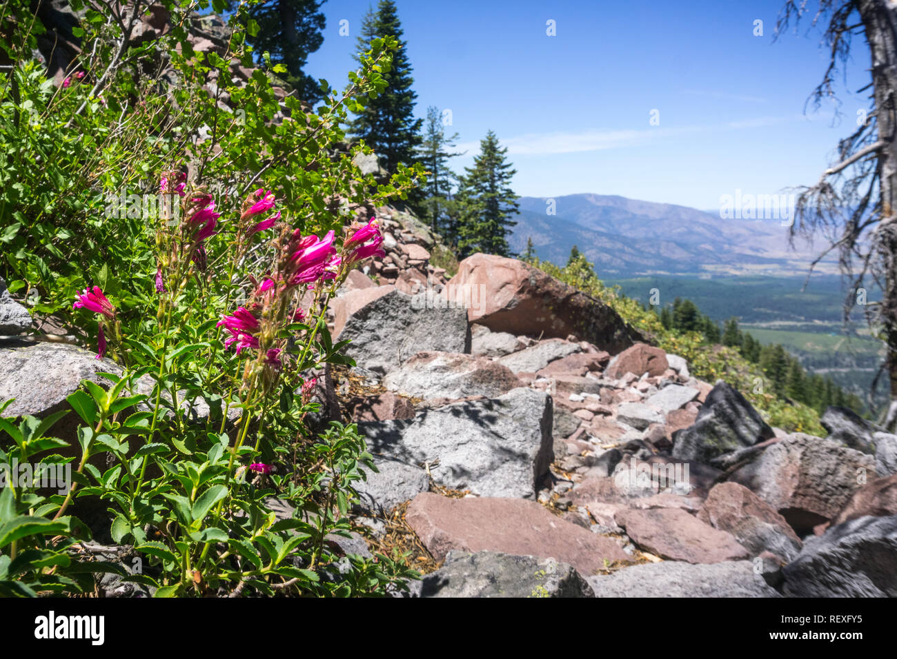
{"label": "largest long flat reddish slab, in the foreground beside the green plants", "polygon": [[448,499],[424,492],[408,506],[405,520],[438,560],[450,550],[503,551],[570,563],[584,576],[604,568],[605,560],[631,560],[619,542],[525,499]]}

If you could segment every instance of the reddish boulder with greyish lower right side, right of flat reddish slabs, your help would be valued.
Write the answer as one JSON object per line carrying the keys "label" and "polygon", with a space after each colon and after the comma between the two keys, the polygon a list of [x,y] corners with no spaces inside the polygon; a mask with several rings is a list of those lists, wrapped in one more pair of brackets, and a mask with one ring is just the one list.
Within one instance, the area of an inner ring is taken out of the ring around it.
{"label": "reddish boulder with greyish lower right side, right of flat reddish slabs", "polygon": [[751,490],[735,482],[715,485],[698,512],[698,519],[731,533],[753,556],[771,551],[791,560],[801,548],[797,533],[785,518]]}

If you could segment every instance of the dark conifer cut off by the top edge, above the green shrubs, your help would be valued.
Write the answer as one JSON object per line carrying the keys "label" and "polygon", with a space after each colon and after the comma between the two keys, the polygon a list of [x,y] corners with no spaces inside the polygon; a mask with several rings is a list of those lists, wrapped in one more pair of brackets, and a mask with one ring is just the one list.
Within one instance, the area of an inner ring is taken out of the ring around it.
{"label": "dark conifer cut off by the top edge, above the green shrubs", "polygon": [[257,53],[268,51],[274,64],[286,66],[286,82],[300,100],[311,104],[322,99],[318,81],[302,71],[309,54],[324,43],[322,31],[327,25],[319,10],[327,0],[266,0],[249,10],[258,23],[255,37],[247,40]]}

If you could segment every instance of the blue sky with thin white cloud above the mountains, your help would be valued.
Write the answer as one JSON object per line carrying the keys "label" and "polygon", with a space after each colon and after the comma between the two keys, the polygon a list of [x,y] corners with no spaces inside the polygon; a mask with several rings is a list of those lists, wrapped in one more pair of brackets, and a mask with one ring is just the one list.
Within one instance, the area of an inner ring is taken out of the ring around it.
{"label": "blue sky with thin white cloud above the mountains", "polygon": [[[309,74],[344,86],[370,4],[324,4],[324,45]],[[867,108],[867,92],[851,93],[867,82],[868,51],[856,39],[840,125],[831,106],[804,113],[827,63],[822,34],[806,22],[774,42],[782,0],[396,4],[417,115],[451,109],[449,130],[467,151],[456,170],[495,131],[518,195],[590,192],[709,210],[736,189],[777,194],[814,183]],[[343,19],[349,37],[339,36]],[[546,35],[549,20],[556,36]]]}

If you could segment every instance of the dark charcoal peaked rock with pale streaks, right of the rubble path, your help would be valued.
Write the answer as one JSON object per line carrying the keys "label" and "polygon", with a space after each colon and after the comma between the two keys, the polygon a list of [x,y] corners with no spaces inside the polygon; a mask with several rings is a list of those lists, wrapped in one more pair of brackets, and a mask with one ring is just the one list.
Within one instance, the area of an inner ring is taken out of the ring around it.
{"label": "dark charcoal peaked rock with pale streaks, right of the rubble path", "polygon": [[710,464],[718,455],[772,437],[772,429],[745,396],[719,380],[701,405],[694,425],[676,435],[673,456]]}

